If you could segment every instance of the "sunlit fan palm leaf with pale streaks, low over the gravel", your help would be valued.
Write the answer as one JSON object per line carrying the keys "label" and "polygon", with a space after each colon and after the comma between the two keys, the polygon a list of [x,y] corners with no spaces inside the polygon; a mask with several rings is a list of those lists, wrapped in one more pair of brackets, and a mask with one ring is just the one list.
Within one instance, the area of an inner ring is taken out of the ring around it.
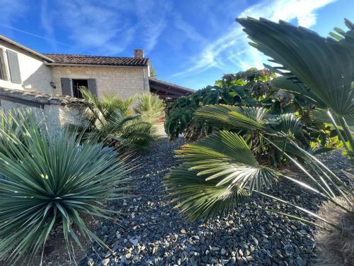
{"label": "sunlit fan palm leaf with pale streaks, low over the gravel", "polygon": [[231,211],[236,199],[268,189],[279,175],[259,165],[245,140],[229,131],[183,145],[177,157],[182,164],[166,175],[164,184],[193,220]]}

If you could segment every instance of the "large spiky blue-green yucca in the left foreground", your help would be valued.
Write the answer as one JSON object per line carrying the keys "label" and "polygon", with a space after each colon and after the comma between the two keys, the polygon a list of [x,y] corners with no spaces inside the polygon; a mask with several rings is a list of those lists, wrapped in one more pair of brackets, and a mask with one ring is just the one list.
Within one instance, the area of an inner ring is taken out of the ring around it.
{"label": "large spiky blue-green yucca in the left foreground", "polygon": [[[83,216],[111,218],[103,202],[125,197],[127,167],[102,143],[84,142],[62,131],[49,133],[33,113],[16,116],[0,129],[0,261],[13,265],[21,256],[44,250],[50,232],[62,224],[69,248],[81,235],[105,245]],[[21,127],[21,133],[6,128]],[[43,255],[43,253],[42,253]],[[27,261],[31,261],[30,259]]]}

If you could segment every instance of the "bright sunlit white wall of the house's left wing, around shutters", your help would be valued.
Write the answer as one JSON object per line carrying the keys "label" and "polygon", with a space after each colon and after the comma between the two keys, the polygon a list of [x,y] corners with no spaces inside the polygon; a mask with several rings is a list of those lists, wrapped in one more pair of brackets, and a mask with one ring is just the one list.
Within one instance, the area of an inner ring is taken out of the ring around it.
{"label": "bright sunlit white wall of the house's left wing, around shutters", "polygon": [[[43,64],[40,57],[30,54],[16,46],[0,40],[0,48],[4,49],[4,59],[8,80],[0,79],[0,87],[6,89],[19,89],[28,92],[40,92],[47,94],[57,94],[55,89],[50,86],[52,81],[52,71],[50,67]],[[12,83],[8,71],[6,50],[12,50],[18,54],[18,64],[20,65],[22,84]]]}

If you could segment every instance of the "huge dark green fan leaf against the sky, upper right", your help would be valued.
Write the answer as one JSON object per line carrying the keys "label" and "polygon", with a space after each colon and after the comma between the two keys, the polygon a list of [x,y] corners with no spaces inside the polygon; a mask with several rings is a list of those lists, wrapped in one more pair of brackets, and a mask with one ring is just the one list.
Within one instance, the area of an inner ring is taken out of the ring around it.
{"label": "huge dark green fan leaf against the sky, upper right", "polygon": [[[326,106],[339,115],[354,112],[353,50],[338,41],[320,37],[307,28],[264,18],[237,18],[250,43],[294,74]],[[348,38],[352,36],[348,32]]]}

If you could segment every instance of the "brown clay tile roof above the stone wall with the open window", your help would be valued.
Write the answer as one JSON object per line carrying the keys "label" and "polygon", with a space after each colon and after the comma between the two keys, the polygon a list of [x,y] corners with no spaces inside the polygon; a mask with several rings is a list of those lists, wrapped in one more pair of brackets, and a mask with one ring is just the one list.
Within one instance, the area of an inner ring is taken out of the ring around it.
{"label": "brown clay tile roof above the stone wall with the open window", "polygon": [[63,54],[44,54],[54,62],[47,65],[67,64],[67,65],[108,65],[124,67],[145,67],[149,64],[148,58],[135,57],[113,57],[97,55],[63,55]]}

